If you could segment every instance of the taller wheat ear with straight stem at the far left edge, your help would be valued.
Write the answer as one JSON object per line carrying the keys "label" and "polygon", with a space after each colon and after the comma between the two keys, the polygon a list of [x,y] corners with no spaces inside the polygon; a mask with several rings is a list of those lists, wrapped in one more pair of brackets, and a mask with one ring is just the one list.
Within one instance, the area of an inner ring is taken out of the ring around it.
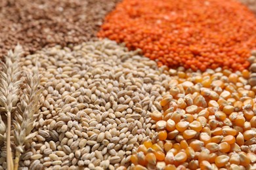
{"label": "taller wheat ear with straight stem at the far left edge", "polygon": [[[13,160],[11,152],[11,113],[18,103],[18,94],[20,92],[21,72],[19,67],[20,56],[23,50],[20,45],[10,50],[5,56],[5,63],[1,62],[2,71],[0,72],[0,105],[1,110],[5,111],[7,116],[7,169],[13,169]],[[3,130],[5,126],[1,123],[1,137],[5,139]]]}

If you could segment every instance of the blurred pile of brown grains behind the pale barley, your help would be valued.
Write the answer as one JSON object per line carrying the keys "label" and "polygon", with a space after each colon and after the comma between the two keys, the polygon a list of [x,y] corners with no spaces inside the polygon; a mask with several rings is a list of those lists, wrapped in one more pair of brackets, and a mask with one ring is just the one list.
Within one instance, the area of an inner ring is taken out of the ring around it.
{"label": "blurred pile of brown grains behind the pale barley", "polygon": [[0,58],[20,43],[28,53],[95,39],[104,16],[119,0],[2,0]]}

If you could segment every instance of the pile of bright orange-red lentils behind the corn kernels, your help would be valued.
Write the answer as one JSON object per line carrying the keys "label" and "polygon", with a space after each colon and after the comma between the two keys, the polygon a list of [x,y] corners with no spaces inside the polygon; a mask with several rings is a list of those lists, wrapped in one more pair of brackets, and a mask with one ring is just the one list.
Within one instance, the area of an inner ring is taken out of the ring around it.
{"label": "pile of bright orange-red lentils behind the corn kernels", "polygon": [[141,48],[160,66],[242,71],[256,48],[256,18],[236,0],[124,0],[98,36]]}

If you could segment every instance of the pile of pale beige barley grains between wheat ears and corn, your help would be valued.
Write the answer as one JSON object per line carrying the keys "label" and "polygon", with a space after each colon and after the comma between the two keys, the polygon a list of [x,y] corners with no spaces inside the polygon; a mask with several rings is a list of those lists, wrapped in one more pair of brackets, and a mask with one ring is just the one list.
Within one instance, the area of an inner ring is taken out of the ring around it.
{"label": "pile of pale beige barley grains between wheat ears and corn", "polygon": [[[24,169],[117,169],[129,167],[139,144],[154,136],[150,114],[161,110],[170,76],[157,64],[116,42],[46,48],[22,58],[39,61],[45,89]],[[1,169],[5,168],[4,159]]]}

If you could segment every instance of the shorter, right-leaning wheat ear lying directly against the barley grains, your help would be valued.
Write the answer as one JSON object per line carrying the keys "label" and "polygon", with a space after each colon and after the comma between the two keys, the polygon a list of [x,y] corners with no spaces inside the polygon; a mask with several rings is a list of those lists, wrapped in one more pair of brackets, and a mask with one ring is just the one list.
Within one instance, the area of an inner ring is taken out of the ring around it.
{"label": "shorter, right-leaning wheat ear lying directly against the barley grains", "polygon": [[20,154],[24,152],[24,144],[37,135],[37,131],[31,133],[34,122],[35,113],[39,110],[39,99],[43,88],[39,88],[41,75],[38,73],[37,67],[33,67],[32,73],[26,73],[26,88],[20,98],[17,110],[18,114],[14,117],[14,142],[16,144],[16,153],[14,161],[14,170],[18,169]]}

